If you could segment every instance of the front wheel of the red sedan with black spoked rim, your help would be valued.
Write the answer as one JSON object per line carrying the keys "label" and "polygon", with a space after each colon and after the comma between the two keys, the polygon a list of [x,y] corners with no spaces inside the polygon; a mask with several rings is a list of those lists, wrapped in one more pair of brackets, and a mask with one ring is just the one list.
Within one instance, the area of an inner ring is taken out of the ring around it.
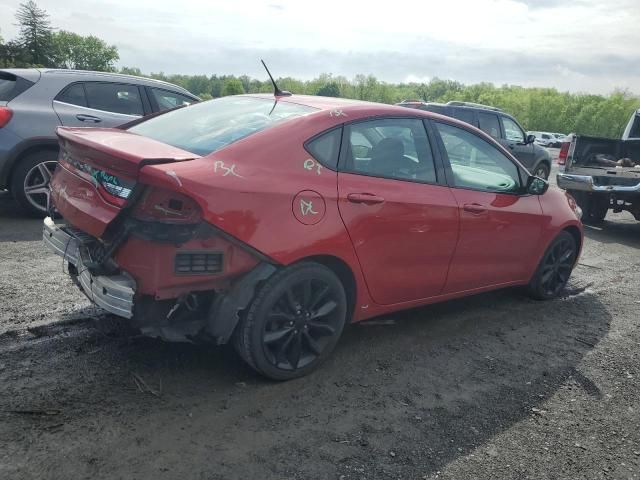
{"label": "front wheel of the red sedan with black spoked rim", "polygon": [[556,298],[564,289],[578,257],[578,246],[569,232],[563,231],[551,242],[529,282],[529,294],[537,300]]}

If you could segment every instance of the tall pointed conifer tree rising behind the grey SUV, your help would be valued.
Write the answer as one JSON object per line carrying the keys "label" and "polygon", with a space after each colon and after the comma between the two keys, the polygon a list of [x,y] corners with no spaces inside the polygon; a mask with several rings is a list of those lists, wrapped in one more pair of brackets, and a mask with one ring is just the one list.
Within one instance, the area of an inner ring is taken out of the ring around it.
{"label": "tall pointed conifer tree rising behind the grey SUV", "polygon": [[28,61],[34,65],[46,66],[51,59],[51,23],[49,14],[29,0],[21,3],[16,12],[20,27],[18,43],[28,54]]}

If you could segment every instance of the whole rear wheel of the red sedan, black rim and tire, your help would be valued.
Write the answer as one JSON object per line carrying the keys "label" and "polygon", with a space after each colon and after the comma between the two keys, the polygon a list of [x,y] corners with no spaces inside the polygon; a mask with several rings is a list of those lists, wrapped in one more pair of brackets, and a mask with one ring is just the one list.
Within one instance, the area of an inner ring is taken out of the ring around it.
{"label": "whole rear wheel of the red sedan, black rim and tire", "polygon": [[290,380],[332,352],[347,317],[347,297],[324,265],[283,268],[258,290],[234,333],[236,351],[258,373]]}

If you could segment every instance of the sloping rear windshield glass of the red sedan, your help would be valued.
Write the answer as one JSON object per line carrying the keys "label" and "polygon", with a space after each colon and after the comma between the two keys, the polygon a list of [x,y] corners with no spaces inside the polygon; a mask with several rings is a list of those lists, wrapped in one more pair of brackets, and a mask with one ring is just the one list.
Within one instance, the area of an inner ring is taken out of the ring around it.
{"label": "sloping rear windshield glass of the red sedan", "polygon": [[223,97],[167,112],[129,131],[204,156],[316,110],[283,101],[274,105],[267,98]]}

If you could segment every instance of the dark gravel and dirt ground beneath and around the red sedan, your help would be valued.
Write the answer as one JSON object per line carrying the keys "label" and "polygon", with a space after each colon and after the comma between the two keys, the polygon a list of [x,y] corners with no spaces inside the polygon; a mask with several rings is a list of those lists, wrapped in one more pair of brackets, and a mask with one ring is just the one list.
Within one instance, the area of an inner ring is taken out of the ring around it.
{"label": "dark gravel and dirt ground beneath and around the red sedan", "polygon": [[2,479],[640,478],[640,224],[587,230],[564,298],[346,331],[277,384],[89,307],[0,194]]}

